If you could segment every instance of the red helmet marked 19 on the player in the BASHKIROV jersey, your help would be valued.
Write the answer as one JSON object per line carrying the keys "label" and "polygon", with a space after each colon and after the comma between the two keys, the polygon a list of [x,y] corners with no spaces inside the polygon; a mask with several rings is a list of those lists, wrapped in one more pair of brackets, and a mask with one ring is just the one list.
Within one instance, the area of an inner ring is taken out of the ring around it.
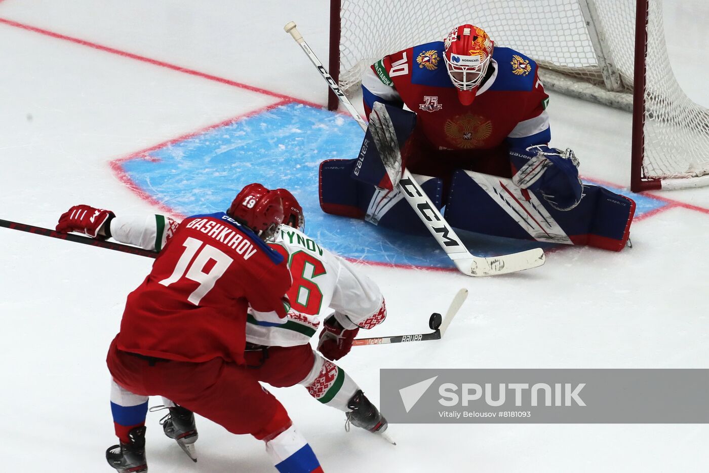
{"label": "red helmet marked 19 on the player in the BASHKIROV jersey", "polygon": [[268,240],[283,222],[283,203],[275,191],[254,183],[241,189],[227,213]]}

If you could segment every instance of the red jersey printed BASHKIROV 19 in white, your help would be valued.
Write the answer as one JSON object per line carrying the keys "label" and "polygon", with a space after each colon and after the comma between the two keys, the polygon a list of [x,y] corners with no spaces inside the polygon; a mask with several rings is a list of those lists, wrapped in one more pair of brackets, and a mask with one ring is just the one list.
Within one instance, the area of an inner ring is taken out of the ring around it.
{"label": "red jersey printed BASHKIROV 19 in white", "polygon": [[284,316],[290,286],[286,259],[226,213],[186,218],[128,295],[118,348],[242,363],[247,306]]}

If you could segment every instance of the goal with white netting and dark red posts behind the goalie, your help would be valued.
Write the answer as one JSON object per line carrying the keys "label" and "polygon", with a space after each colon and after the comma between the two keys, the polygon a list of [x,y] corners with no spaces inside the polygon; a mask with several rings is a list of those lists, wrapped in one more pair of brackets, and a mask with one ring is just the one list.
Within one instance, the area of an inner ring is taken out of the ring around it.
{"label": "goal with white netting and dark red posts behind the goalie", "polygon": [[709,184],[709,111],[674,77],[661,0],[332,0],[330,13],[347,94],[382,56],[471,21],[536,60],[547,89],[632,111],[633,191]]}

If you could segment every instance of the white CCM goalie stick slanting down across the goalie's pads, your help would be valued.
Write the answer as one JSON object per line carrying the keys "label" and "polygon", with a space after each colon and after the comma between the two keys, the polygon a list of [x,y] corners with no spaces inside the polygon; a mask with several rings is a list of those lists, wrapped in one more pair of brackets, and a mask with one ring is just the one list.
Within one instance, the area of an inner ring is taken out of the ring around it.
{"label": "white CCM goalie stick slanting down across the goalie's pads", "polygon": [[[342,104],[347,108],[352,117],[359,123],[362,130],[367,130],[367,123],[364,122],[362,116],[359,116],[350,99],[347,99],[345,94],[337,86],[335,79],[330,76],[327,69],[318,60],[318,57],[313,53],[313,50],[308,46],[308,43],[303,40],[303,35],[296,28],[296,23],[289,22],[283,28],[286,33],[290,33],[296,43],[301,45],[303,51],[308,55],[313,65],[318,68],[320,75],[323,76],[325,82],[328,82],[330,89],[339,97]],[[375,118],[372,118],[375,116]],[[384,104],[376,102],[373,107],[372,115],[370,115],[371,124],[374,128],[379,128],[376,133],[372,133],[373,137],[381,137],[380,143],[375,143],[380,154],[384,152],[382,161],[389,176],[392,178],[392,183],[396,183],[398,189],[403,193],[403,196],[411,205],[413,210],[418,215],[418,218],[424,223],[433,238],[436,239],[440,247],[446,252],[448,257],[454,262],[460,272],[467,276],[489,276],[492,274],[507,274],[510,272],[523,271],[533,267],[541,266],[545,262],[544,251],[541,248],[527,250],[510,255],[501,255],[496,257],[481,257],[471,255],[468,249],[463,245],[462,241],[456,235],[453,228],[445,221],[445,218],[440,214],[435,205],[418,185],[418,182],[413,179],[411,172],[408,169],[401,169],[401,155],[398,151],[398,143],[396,143],[396,134],[393,132],[391,118],[386,112]],[[391,127],[391,128],[390,128]],[[393,141],[392,141],[393,140]],[[381,148],[379,148],[381,145]],[[398,166],[398,169],[396,169]],[[399,179],[401,177],[401,179]]]}

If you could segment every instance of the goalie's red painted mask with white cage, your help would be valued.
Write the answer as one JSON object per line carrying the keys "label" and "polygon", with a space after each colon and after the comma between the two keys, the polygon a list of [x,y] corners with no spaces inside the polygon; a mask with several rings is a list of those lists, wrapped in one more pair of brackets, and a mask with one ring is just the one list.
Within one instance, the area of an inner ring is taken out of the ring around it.
{"label": "goalie's red painted mask with white cage", "polygon": [[458,99],[470,105],[492,60],[494,41],[482,28],[471,24],[457,26],[443,40],[448,76],[458,89]]}

